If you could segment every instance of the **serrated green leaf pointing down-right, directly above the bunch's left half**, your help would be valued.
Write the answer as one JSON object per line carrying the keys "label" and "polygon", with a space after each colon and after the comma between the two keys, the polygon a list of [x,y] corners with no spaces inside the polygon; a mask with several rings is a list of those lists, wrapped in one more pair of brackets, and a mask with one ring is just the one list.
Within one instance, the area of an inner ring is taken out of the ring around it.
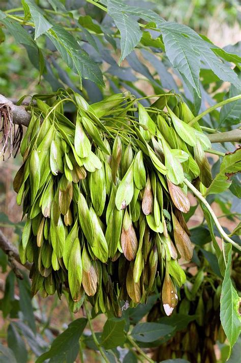
{"label": "serrated green leaf pointing down-right, directly above the bunch's left half", "polygon": [[68,67],[78,74],[80,79],[83,77],[104,87],[100,68],[70,33],[62,26],[54,25],[46,35],[53,42]]}

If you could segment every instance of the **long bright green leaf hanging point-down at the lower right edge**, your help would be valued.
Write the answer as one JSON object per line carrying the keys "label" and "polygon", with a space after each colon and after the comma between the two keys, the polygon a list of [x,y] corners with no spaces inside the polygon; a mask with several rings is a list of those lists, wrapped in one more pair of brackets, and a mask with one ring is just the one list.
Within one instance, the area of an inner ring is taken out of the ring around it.
{"label": "long bright green leaf hanging point-down at the lower right edge", "polygon": [[232,246],[229,244],[228,262],[222,284],[220,300],[220,319],[230,344],[229,355],[241,330],[241,317],[238,312],[240,298],[231,281],[231,261]]}

